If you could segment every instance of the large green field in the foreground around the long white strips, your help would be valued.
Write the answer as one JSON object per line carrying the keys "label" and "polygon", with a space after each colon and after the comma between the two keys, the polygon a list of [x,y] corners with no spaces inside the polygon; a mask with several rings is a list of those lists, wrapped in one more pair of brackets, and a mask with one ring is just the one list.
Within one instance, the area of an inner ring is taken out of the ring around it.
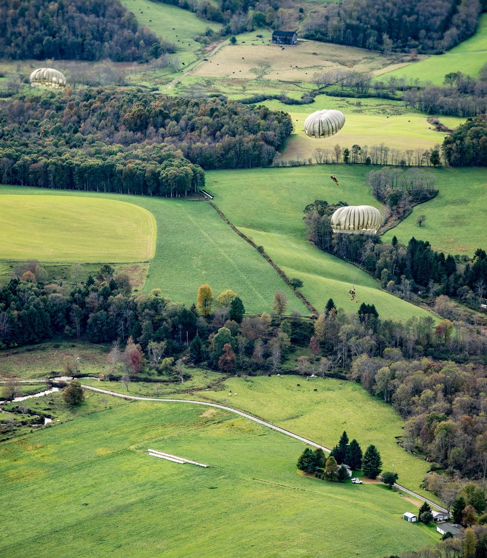
{"label": "large green field in the foreground around the long white strips", "polygon": [[376,558],[435,543],[397,493],[298,475],[304,447],[231,412],[154,402],[2,442],[0,554]]}

